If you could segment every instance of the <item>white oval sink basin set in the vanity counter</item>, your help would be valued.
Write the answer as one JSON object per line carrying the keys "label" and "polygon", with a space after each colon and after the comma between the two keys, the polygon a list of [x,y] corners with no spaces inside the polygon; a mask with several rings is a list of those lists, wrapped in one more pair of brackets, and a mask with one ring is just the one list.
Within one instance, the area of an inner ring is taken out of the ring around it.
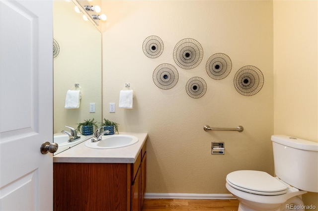
{"label": "white oval sink basin set in the vanity counter", "polygon": [[138,141],[139,139],[132,135],[105,135],[97,142],[91,142],[90,139],[87,140],[85,146],[93,149],[115,149],[134,145]]}

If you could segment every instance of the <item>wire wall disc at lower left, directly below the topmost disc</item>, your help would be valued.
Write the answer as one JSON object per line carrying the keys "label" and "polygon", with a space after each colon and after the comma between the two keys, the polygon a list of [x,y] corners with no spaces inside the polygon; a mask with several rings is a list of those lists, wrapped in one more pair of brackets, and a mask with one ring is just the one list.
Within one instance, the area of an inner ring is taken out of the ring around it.
{"label": "wire wall disc at lower left, directly below the topmost disc", "polygon": [[154,83],[160,89],[171,89],[174,87],[179,79],[177,69],[171,64],[160,64],[156,67],[153,73]]}

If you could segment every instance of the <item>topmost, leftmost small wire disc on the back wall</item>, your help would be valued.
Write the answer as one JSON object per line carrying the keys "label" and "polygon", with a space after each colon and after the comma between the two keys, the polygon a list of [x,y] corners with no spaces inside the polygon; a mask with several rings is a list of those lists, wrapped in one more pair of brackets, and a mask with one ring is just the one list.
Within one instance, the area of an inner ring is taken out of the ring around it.
{"label": "topmost, leftmost small wire disc on the back wall", "polygon": [[150,58],[157,58],[163,52],[163,42],[157,36],[149,36],[143,43],[143,51]]}

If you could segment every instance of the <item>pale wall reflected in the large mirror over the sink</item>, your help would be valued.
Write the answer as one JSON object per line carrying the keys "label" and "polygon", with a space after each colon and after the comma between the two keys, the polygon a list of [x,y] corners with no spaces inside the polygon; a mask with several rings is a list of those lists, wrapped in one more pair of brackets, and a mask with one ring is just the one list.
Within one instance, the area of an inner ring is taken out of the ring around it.
{"label": "pale wall reflected in the large mirror over the sink", "polygon": [[[101,33],[89,21],[83,20],[83,14],[75,11],[72,1],[55,0],[53,3],[53,38],[60,49],[59,54],[54,57],[53,131],[56,134],[62,130],[70,130],[65,125],[77,128],[77,123],[84,119],[94,118],[97,123],[102,121]],[[75,89],[75,84],[79,84],[81,89],[79,108],[66,109],[66,93]],[[95,103],[95,112],[89,112],[90,103]],[[85,139],[87,138],[89,137]],[[61,143],[54,155],[81,141]]]}

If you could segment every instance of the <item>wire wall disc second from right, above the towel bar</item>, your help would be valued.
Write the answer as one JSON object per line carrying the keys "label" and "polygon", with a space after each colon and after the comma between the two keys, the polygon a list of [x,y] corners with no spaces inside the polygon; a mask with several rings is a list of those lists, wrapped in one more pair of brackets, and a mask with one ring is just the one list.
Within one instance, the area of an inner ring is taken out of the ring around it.
{"label": "wire wall disc second from right, above the towel bar", "polygon": [[230,57],[224,53],[215,53],[208,59],[205,68],[211,78],[220,80],[230,74],[232,61]]}

